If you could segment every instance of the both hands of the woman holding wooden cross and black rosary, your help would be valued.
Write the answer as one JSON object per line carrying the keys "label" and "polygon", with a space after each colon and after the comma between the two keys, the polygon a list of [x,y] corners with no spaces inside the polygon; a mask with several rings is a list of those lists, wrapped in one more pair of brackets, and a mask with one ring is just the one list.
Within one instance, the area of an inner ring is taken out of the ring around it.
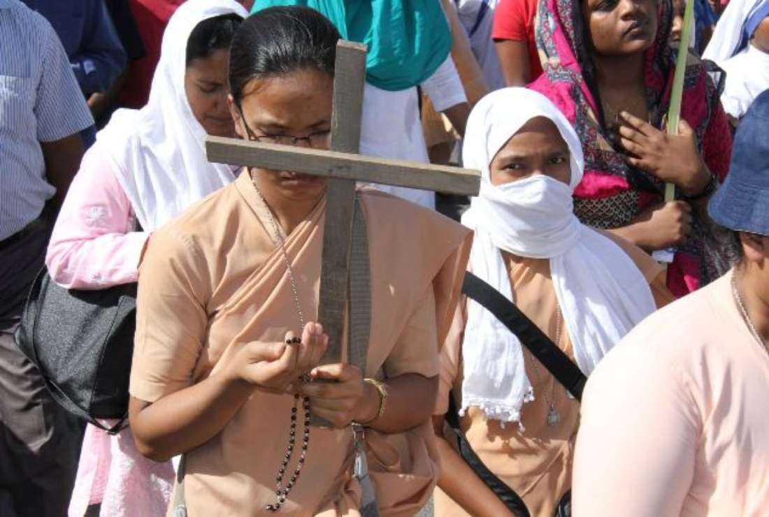
{"label": "both hands of the woman holding wooden cross and black rosary", "polygon": [[[344,363],[318,366],[328,346],[323,326],[307,323],[301,343],[291,343],[294,338],[295,334],[288,332],[284,343],[246,343],[232,357],[226,369],[228,376],[270,393],[308,396],[311,412],[339,428],[372,417],[376,409],[364,403],[371,401],[364,398],[363,373],[358,367]],[[311,382],[315,379],[336,382]]]}

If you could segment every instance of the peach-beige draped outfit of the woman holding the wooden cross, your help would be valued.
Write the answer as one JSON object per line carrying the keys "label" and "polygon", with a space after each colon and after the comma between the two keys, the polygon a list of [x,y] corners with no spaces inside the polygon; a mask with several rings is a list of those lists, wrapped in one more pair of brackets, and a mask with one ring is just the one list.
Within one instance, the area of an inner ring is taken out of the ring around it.
{"label": "peach-beige draped outfit of the woman holding the wooden cross", "polygon": [[[365,375],[435,376],[470,233],[387,194],[365,191],[361,198],[371,255]],[[285,241],[308,319],[318,313],[324,217],[321,201]],[[269,225],[248,174],[241,174],[153,234],[139,271],[132,396],[155,402],[216,375],[241,343],[281,341],[286,331],[300,330]],[[255,390],[218,435],[187,453],[190,515],[258,515],[274,502],[292,406],[292,396]],[[350,429],[311,429],[307,462],[281,514],[357,515],[351,438]],[[428,499],[437,472],[433,438],[429,423],[397,435],[367,432],[383,514],[413,515]]]}

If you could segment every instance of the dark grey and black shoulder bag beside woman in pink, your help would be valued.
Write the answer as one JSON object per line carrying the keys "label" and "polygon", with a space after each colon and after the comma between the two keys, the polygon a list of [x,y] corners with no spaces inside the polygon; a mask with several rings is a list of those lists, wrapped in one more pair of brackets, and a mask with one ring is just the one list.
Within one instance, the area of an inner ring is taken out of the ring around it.
{"label": "dark grey and black shoulder bag beside woman in pink", "polygon": [[[136,287],[65,289],[44,267],[15,334],[19,349],[38,367],[59,406],[110,434],[128,426]],[[97,419],[119,421],[106,427]]]}

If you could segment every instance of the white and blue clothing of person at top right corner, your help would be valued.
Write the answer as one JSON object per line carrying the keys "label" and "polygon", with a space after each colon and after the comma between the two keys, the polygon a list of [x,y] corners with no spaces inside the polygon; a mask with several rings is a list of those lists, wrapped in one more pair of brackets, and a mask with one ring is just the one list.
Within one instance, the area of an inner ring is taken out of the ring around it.
{"label": "white and blue clothing of person at top right corner", "polygon": [[754,99],[769,88],[769,55],[749,42],[767,15],[769,0],[731,0],[702,53],[703,59],[714,61],[726,72],[721,104],[734,118],[741,118]]}

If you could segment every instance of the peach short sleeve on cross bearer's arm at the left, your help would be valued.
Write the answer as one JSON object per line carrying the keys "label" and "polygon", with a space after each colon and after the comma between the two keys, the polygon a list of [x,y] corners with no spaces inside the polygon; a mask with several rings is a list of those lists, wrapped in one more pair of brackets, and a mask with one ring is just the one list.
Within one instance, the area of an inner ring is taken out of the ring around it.
{"label": "peach short sleeve on cross bearer's arm at the left", "polygon": [[139,270],[132,396],[154,403],[191,386],[206,340],[210,285],[197,247],[172,228],[153,234]]}

